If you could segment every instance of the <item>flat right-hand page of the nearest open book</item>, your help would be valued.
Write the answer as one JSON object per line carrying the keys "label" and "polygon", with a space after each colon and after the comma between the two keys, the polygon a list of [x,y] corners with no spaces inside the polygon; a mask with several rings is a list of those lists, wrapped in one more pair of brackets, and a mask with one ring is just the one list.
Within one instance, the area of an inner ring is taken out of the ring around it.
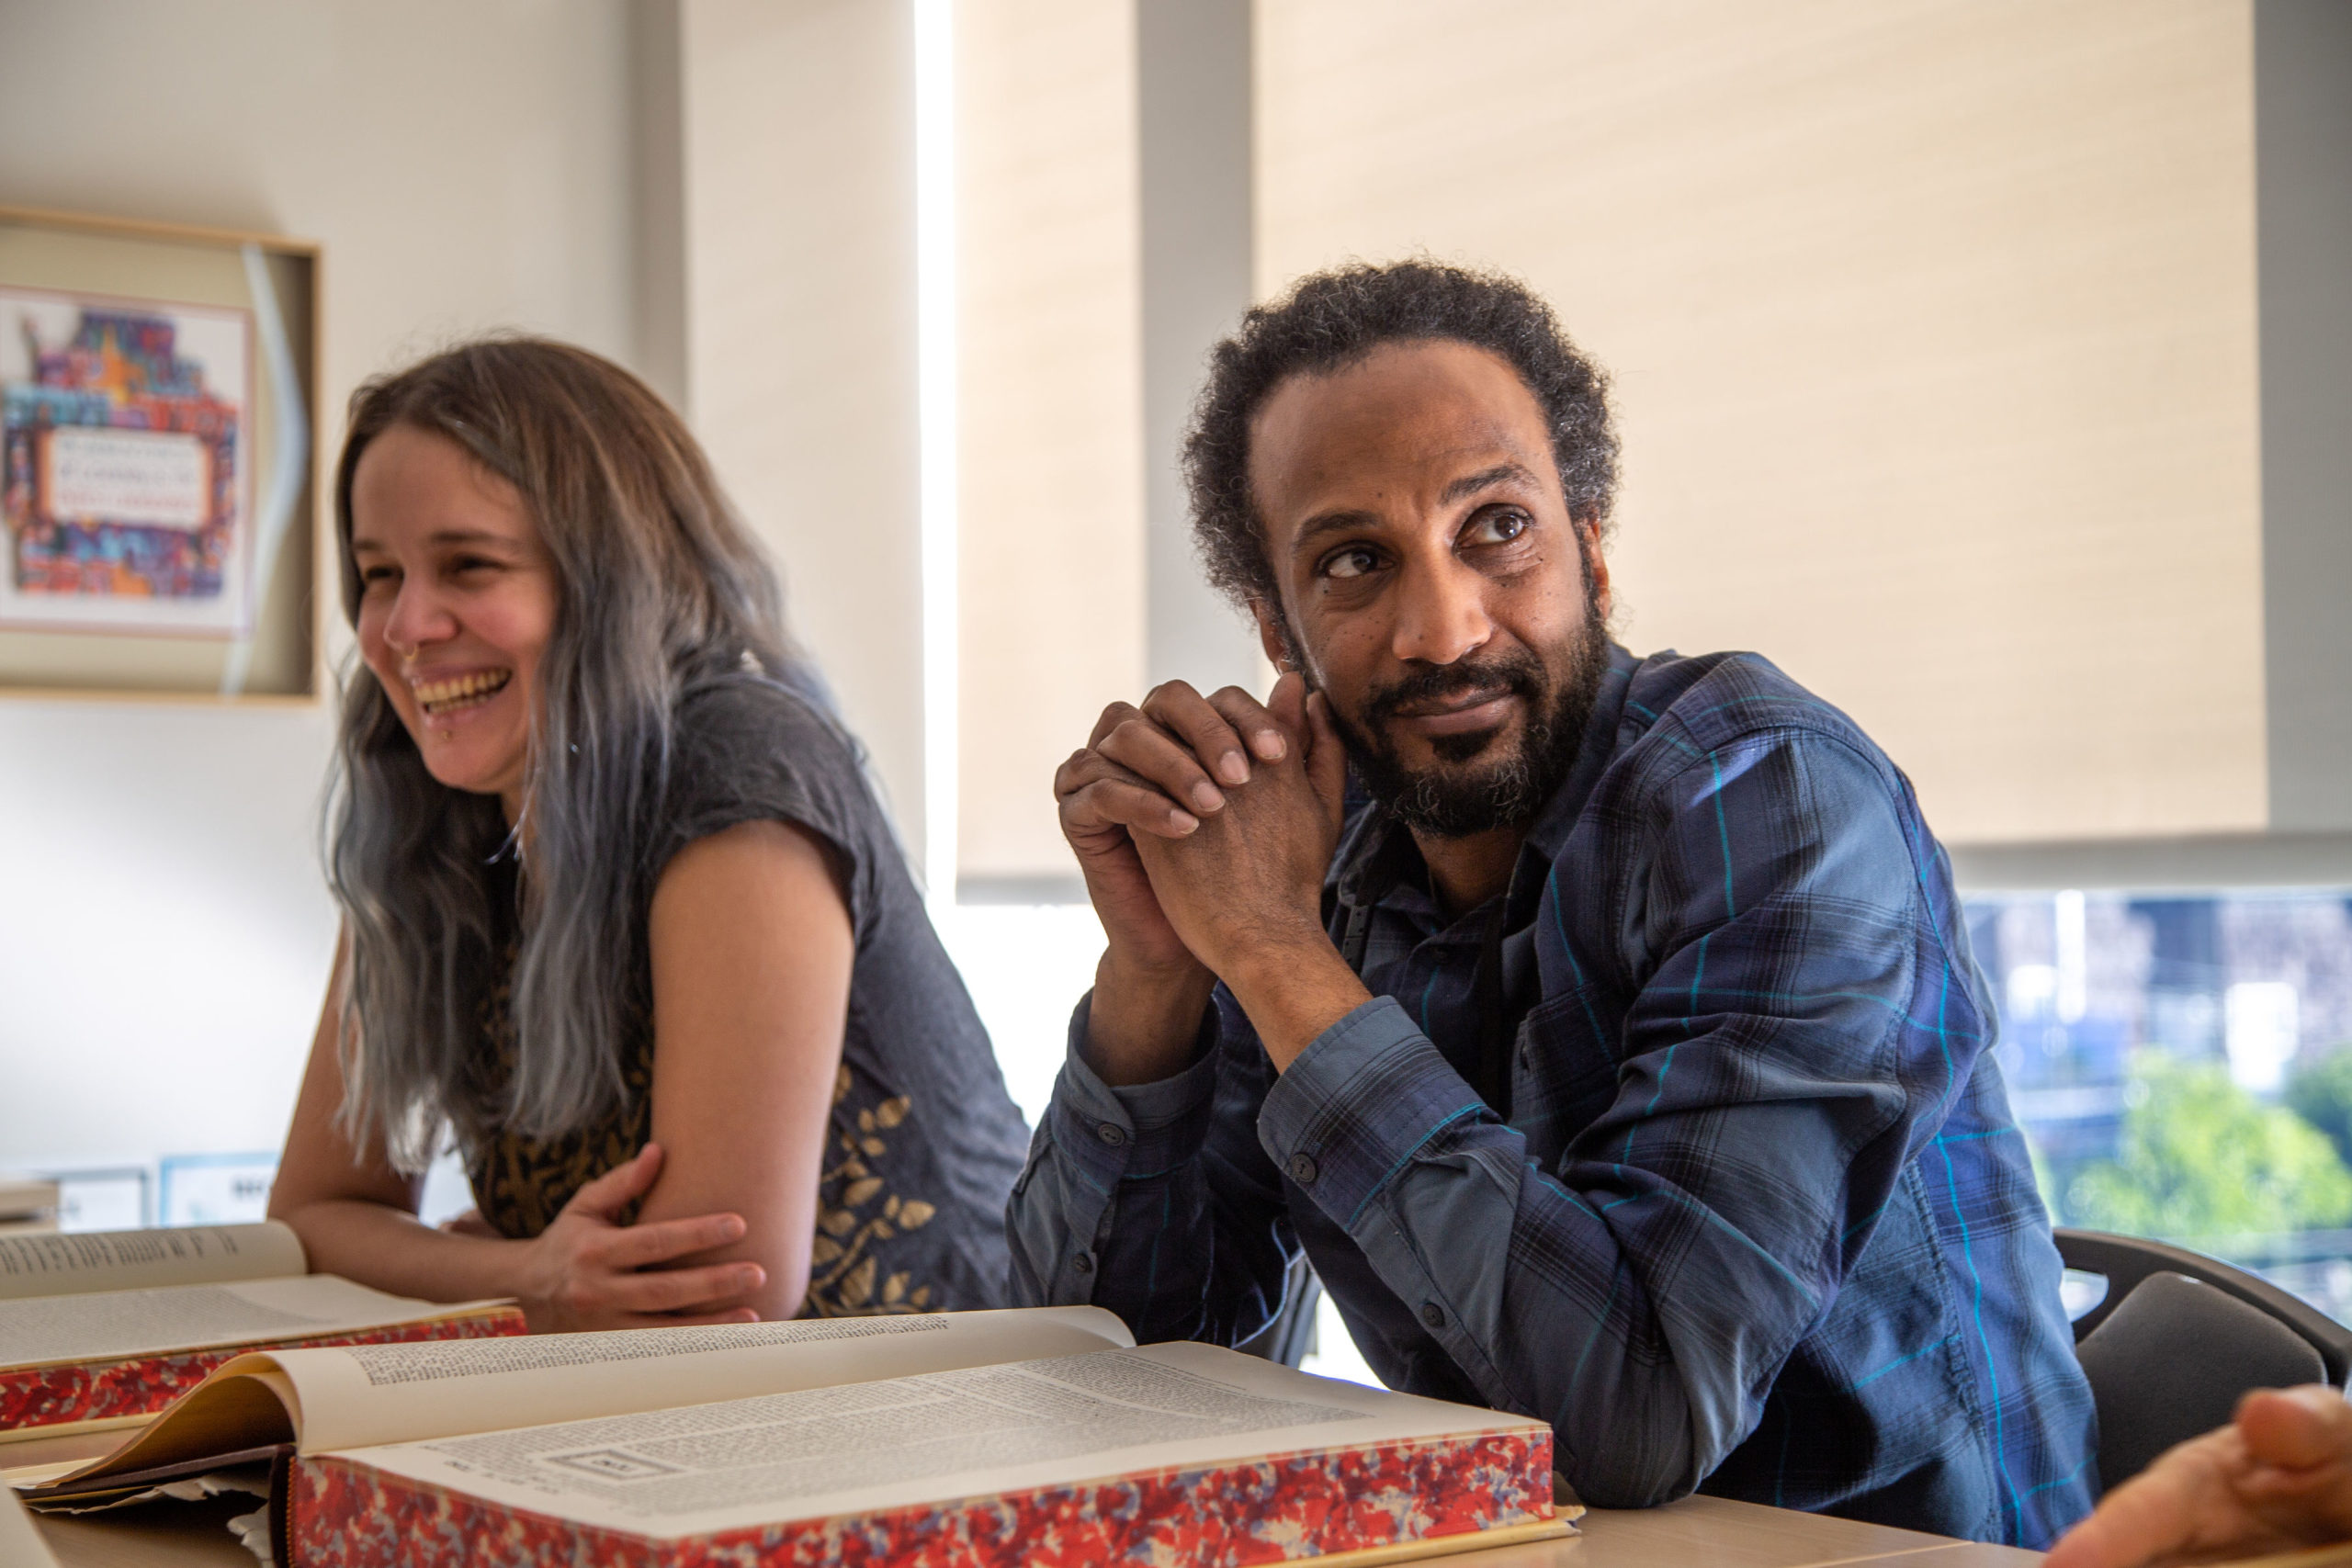
{"label": "flat right-hand page of the nearest open book", "polygon": [[1152,1345],[343,1458],[673,1540],[1138,1469],[1512,1429],[1543,1432],[1543,1422],[1312,1378],[1211,1345]]}

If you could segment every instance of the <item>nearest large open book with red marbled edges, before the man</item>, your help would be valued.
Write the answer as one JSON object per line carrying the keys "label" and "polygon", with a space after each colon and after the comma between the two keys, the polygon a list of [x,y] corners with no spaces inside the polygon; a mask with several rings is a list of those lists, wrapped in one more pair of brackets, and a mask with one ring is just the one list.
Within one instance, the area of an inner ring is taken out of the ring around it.
{"label": "nearest large open book with red marbled edges, before the man", "polygon": [[275,1559],[334,1568],[1390,1561],[1569,1528],[1538,1420],[1136,1349],[1098,1307],[247,1354],[26,1497],[261,1462]]}

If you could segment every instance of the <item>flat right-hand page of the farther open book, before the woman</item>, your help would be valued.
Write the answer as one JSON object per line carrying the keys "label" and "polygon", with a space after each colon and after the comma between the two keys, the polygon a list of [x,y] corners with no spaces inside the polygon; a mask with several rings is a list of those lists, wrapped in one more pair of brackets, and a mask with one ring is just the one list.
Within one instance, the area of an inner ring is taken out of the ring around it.
{"label": "flat right-hand page of the farther open book, before the woman", "polygon": [[461,1307],[386,1295],[334,1274],[226,1286],[0,1300],[0,1366],[115,1361],[181,1349],[386,1328]]}

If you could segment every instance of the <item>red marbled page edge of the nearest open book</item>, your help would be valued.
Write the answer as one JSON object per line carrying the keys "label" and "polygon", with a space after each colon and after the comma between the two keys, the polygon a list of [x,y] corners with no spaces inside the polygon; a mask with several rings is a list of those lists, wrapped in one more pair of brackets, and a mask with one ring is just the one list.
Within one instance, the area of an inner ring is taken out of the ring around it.
{"label": "red marbled page edge of the nearest open book", "polygon": [[1552,1434],[1164,1469],[953,1507],[656,1540],[510,1509],[360,1460],[296,1460],[303,1568],[1251,1568],[1552,1519]]}

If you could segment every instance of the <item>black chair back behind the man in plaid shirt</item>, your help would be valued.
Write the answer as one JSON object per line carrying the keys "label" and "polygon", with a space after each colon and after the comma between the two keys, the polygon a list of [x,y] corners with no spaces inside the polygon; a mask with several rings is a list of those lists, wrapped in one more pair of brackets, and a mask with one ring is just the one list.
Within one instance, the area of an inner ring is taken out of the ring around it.
{"label": "black chair back behind the man in plaid shirt", "polygon": [[2096,1229],[2060,1229],[2058,1255],[2107,1276],[2107,1295],[2074,1321],[2105,1488],[2225,1425],[2246,1389],[2343,1387],[2352,1371],[2352,1328],[2218,1258]]}

